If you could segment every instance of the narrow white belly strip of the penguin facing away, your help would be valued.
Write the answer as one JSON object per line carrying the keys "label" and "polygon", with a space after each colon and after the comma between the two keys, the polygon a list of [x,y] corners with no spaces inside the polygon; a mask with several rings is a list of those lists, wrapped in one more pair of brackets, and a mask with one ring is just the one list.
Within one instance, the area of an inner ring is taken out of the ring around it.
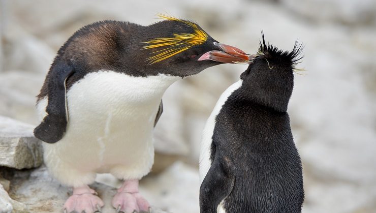
{"label": "narrow white belly strip of the penguin facing away", "polygon": [[210,169],[211,161],[211,143],[212,143],[212,136],[215,127],[215,117],[220,113],[222,106],[225,104],[229,96],[238,89],[243,80],[239,80],[233,83],[230,87],[228,87],[225,92],[221,95],[220,99],[218,99],[217,103],[214,106],[213,111],[211,112],[209,118],[206,121],[204,131],[202,133],[202,140],[200,144],[200,181],[204,180],[207,172]]}

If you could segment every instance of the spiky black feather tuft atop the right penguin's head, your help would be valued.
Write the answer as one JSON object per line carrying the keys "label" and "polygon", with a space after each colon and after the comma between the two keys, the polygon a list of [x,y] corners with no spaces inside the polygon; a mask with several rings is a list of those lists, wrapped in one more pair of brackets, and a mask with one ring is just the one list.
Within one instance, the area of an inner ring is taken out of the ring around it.
{"label": "spiky black feather tuft atop the right penguin's head", "polygon": [[272,44],[266,44],[263,31],[261,31],[261,35],[262,42],[260,41],[258,54],[263,55],[265,58],[281,64],[290,65],[294,69],[295,66],[300,63],[300,59],[304,57],[304,55],[301,56],[304,49],[302,43],[299,44],[298,41],[296,41],[291,51],[284,51],[274,47]]}

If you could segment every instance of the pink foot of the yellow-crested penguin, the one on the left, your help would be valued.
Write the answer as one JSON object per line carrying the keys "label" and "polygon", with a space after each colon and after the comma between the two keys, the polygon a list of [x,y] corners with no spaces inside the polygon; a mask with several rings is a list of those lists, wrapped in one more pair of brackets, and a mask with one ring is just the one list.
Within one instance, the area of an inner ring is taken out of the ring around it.
{"label": "pink foot of the yellow-crested penguin, the one on the left", "polygon": [[64,212],[101,212],[103,201],[88,186],[73,188],[73,194],[64,204]]}

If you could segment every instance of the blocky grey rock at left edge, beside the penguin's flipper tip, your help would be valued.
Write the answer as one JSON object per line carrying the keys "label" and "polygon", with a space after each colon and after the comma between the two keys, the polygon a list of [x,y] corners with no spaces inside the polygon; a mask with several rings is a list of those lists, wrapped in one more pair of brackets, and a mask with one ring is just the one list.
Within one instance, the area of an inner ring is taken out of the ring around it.
{"label": "blocky grey rock at left edge, beside the penguin's flipper tip", "polygon": [[43,162],[41,141],[33,126],[0,116],[0,166],[16,169],[38,167]]}

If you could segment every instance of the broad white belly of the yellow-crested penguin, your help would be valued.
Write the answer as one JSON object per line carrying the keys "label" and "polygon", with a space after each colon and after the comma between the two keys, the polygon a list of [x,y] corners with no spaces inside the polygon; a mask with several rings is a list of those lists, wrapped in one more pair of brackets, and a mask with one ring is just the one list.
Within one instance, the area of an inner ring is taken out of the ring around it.
{"label": "broad white belly of the yellow-crested penguin", "polygon": [[177,79],[112,71],[85,75],[67,92],[66,134],[54,144],[44,143],[50,171],[61,176],[61,167],[71,166],[83,173],[110,172],[119,178],[146,175],[154,158],[154,119],[163,93]]}

